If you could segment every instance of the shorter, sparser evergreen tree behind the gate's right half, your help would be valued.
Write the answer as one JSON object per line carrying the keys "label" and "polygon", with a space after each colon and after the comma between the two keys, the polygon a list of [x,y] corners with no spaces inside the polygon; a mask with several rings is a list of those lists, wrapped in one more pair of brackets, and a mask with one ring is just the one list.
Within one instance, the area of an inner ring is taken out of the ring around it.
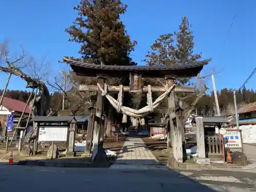
{"label": "shorter, sparser evergreen tree behind the gate's right half", "polygon": [[[176,44],[176,45],[175,45]],[[194,53],[194,36],[191,25],[186,17],[182,17],[182,22],[178,32],[160,35],[151,46],[151,51],[145,56],[146,65],[148,66],[170,66],[175,64],[185,64],[189,61],[196,61],[201,58],[201,54]],[[162,81],[162,83],[159,83]],[[147,83],[161,85],[165,83],[164,79],[147,79]],[[180,85],[191,84],[189,78],[180,78],[176,81]],[[185,97],[185,94],[179,96]],[[186,99],[191,103],[191,98]],[[159,106],[159,115],[166,113],[166,103]]]}

